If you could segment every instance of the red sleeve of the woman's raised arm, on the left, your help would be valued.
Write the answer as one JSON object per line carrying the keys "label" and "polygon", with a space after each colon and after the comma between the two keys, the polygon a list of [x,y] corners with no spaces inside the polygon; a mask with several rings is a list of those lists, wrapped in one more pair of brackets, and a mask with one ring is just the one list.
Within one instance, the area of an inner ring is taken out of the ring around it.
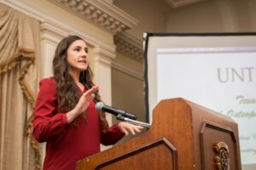
{"label": "red sleeve of the woman's raised arm, on the left", "polygon": [[46,78],[39,82],[38,99],[34,110],[33,135],[38,142],[66,131],[67,115],[57,112],[55,80]]}

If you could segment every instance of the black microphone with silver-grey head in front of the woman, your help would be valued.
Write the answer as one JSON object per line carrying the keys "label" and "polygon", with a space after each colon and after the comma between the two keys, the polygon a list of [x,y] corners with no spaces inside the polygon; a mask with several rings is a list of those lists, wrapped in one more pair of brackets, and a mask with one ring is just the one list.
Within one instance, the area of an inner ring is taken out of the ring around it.
{"label": "black microphone with silver-grey head in front of the woman", "polygon": [[137,116],[134,114],[128,113],[127,111],[119,110],[108,105],[104,105],[102,102],[97,102],[95,105],[97,111],[102,113],[102,111],[106,111],[108,113],[113,114],[114,116],[124,116],[133,120],[137,119]]}

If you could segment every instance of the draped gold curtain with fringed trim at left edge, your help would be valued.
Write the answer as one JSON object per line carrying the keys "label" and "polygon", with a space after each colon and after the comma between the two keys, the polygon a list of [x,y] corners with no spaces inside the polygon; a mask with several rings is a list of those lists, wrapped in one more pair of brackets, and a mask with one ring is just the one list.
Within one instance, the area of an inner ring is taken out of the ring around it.
{"label": "draped gold curtain with fringed trim at left edge", "polygon": [[0,170],[40,169],[32,137],[40,23],[0,3]]}

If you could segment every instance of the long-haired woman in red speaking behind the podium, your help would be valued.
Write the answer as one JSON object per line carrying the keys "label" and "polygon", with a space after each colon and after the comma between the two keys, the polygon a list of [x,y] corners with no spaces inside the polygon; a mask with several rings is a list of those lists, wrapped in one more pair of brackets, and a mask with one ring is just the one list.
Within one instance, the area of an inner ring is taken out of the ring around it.
{"label": "long-haired woman in red speaking behind the podium", "polygon": [[101,101],[92,82],[88,48],[77,36],[65,37],[55,50],[54,77],[40,81],[34,111],[33,135],[47,142],[44,169],[75,169],[76,161],[100,151],[100,143],[114,144],[143,127],[128,122],[108,127]]}

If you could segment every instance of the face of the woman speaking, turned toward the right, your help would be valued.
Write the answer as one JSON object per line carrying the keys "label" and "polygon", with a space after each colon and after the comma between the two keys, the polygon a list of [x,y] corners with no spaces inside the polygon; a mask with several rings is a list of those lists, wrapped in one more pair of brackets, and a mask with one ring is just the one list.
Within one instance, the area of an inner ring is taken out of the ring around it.
{"label": "face of the woman speaking, turned toward the right", "polygon": [[68,71],[85,71],[89,65],[88,48],[83,40],[76,40],[67,48]]}

